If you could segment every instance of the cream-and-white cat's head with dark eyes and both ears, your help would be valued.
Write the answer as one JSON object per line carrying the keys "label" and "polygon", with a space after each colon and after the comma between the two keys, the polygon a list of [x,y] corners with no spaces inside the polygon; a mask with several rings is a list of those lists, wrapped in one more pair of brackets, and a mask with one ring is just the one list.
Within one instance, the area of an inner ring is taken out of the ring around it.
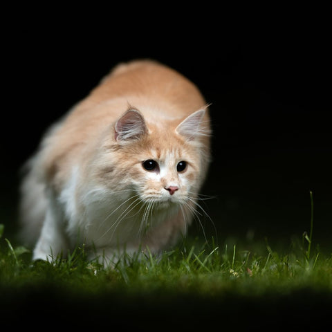
{"label": "cream-and-white cat's head with dark eyes and both ears", "polygon": [[209,161],[207,124],[205,108],[159,123],[147,121],[137,109],[127,110],[113,127],[104,174],[109,186],[159,206],[195,199]]}

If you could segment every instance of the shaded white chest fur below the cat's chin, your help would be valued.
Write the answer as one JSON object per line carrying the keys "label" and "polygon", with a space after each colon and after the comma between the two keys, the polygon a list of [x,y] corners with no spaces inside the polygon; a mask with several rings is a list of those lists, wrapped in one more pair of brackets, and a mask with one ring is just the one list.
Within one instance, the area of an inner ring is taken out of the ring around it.
{"label": "shaded white chest fur below the cat's chin", "polygon": [[178,212],[178,205],[142,201],[133,188],[119,191],[89,182],[78,185],[78,167],[59,196],[65,228],[71,244],[85,242],[96,247],[138,246],[160,223]]}

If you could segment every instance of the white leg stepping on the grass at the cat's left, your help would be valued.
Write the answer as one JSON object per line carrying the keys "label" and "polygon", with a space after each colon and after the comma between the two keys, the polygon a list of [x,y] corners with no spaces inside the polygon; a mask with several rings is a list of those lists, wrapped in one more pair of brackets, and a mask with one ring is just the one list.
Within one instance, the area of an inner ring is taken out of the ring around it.
{"label": "white leg stepping on the grass at the cat's left", "polygon": [[62,213],[59,206],[49,199],[41,234],[33,251],[33,260],[52,261],[59,253],[66,253],[68,241],[64,234]]}

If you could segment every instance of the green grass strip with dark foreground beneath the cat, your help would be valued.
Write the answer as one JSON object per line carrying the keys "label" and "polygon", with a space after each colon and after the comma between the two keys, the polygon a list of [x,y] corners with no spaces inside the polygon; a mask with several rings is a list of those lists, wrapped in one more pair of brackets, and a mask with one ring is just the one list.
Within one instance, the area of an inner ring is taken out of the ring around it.
{"label": "green grass strip with dark foreground beneath the cat", "polygon": [[4,235],[0,225],[3,326],[46,316],[53,327],[256,331],[323,326],[331,315],[332,256],[313,248],[313,214],[309,234],[286,250],[187,239],[162,255],[124,255],[108,269],[87,260],[84,247],[32,263],[29,250]]}

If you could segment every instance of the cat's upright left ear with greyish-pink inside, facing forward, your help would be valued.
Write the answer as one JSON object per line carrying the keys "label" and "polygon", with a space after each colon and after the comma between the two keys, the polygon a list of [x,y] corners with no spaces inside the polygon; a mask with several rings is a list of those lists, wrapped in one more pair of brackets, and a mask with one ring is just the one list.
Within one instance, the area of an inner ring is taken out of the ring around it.
{"label": "cat's upright left ear with greyish-pink inside, facing forward", "polygon": [[136,109],[129,109],[116,122],[114,127],[116,140],[133,140],[147,132],[147,126],[142,114]]}

